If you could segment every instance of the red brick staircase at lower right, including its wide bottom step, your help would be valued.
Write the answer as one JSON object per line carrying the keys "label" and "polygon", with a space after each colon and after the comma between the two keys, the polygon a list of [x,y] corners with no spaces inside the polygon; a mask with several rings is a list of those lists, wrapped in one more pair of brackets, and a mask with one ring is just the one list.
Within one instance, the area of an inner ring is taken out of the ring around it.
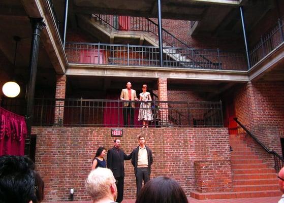
{"label": "red brick staircase at lower right, including its wide bottom step", "polygon": [[243,135],[230,135],[232,192],[192,192],[198,199],[281,196],[274,168],[270,168],[244,143]]}

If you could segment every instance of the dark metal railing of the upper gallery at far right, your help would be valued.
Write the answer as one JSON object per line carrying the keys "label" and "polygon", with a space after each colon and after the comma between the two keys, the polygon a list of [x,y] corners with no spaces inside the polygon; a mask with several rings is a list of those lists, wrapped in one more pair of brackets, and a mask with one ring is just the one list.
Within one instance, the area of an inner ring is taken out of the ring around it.
{"label": "dark metal railing of the upper gallery at far right", "polygon": [[283,19],[278,19],[276,25],[265,35],[261,36],[259,42],[250,49],[250,67],[253,67],[283,42]]}

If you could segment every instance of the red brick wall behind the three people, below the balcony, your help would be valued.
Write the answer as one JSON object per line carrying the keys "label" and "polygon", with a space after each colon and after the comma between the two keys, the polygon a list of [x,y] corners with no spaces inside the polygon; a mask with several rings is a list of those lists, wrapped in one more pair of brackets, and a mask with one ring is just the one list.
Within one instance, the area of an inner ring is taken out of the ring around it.
{"label": "red brick wall behind the three people, below the balcony", "polygon": [[[84,181],[98,147],[113,146],[110,128],[33,127],[33,134],[37,134],[36,170],[45,182],[45,200],[69,200],[71,187],[75,189],[75,200],[89,199]],[[211,161],[212,168],[224,164],[224,168],[231,170],[226,128],[123,128],[121,142],[125,153],[129,154],[137,146],[137,137],[141,134],[146,136],[146,145],[153,151],[151,178],[172,177],[187,195],[196,189],[195,161]],[[130,161],[124,165],[124,198],[133,199],[136,197],[133,166]],[[220,173],[214,177],[220,180]],[[203,175],[205,183],[210,178]]]}

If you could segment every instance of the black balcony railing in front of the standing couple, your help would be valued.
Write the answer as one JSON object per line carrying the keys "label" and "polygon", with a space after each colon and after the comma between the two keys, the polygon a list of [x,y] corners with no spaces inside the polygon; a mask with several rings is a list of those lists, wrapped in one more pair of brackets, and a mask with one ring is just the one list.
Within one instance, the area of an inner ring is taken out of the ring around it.
{"label": "black balcony railing in front of the standing couple", "polygon": [[[142,127],[139,111],[148,110],[149,127],[223,127],[222,103],[191,101],[148,101],[149,108],[133,109],[134,127]],[[45,99],[36,98],[33,126],[104,126],[123,127],[123,101],[106,99]],[[6,99],[2,107],[15,113],[23,112],[24,104]],[[146,115],[148,116],[148,115]],[[128,126],[130,123],[128,123]]]}

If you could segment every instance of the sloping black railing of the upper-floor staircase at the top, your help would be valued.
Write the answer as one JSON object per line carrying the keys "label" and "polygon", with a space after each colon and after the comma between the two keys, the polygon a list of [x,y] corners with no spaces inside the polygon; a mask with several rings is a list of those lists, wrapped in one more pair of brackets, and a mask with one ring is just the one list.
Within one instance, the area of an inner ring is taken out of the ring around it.
{"label": "sloping black railing of the upper-floor staircase at the top", "polygon": [[[114,15],[105,15],[105,14],[92,14],[94,17],[97,17],[99,20],[103,21],[104,23],[108,24],[114,29],[117,30],[125,30],[124,28],[120,28],[119,23],[118,23],[118,16]],[[128,30],[131,31],[146,31],[146,32],[151,32],[153,35],[156,37],[159,35],[159,26],[149,18],[144,18],[144,17],[130,17],[130,26]],[[188,57],[192,61],[195,61],[197,65],[200,67],[203,67],[203,64],[206,64],[206,66],[211,67],[212,66],[220,66],[220,63],[218,62],[212,62],[208,58],[206,58],[204,55],[198,53],[196,50],[194,50],[192,47],[188,46],[186,43],[182,42],[178,38],[176,38],[174,35],[172,35],[169,31],[164,29],[162,27],[162,36],[163,36],[163,42],[172,47],[179,47],[179,48],[187,48],[192,51],[192,56]],[[167,47],[163,47],[164,49],[167,49]],[[195,60],[194,60],[195,59]],[[197,60],[199,59],[199,60]]]}

